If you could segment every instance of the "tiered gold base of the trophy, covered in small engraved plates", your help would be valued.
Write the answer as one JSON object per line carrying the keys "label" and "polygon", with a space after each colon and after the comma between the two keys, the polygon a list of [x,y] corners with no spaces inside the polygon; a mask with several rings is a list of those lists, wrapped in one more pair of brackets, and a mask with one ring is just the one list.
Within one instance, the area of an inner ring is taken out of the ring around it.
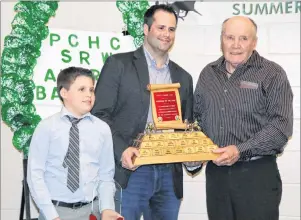
{"label": "tiered gold base of the trophy, covered in small engraved plates", "polygon": [[[153,138],[149,138],[149,135]],[[144,142],[144,139],[147,141]],[[212,153],[218,146],[201,131],[144,134],[141,144],[137,147],[140,156],[135,158],[135,166],[214,160],[219,156]]]}

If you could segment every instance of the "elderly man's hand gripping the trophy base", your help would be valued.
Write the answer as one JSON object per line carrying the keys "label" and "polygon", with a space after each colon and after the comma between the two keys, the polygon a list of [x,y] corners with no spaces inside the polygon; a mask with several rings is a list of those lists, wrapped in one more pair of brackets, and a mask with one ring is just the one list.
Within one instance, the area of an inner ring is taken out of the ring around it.
{"label": "elderly man's hand gripping the trophy base", "polygon": [[235,145],[221,147],[213,150],[212,152],[220,154],[218,158],[213,160],[213,163],[217,166],[232,166],[240,157],[238,148]]}

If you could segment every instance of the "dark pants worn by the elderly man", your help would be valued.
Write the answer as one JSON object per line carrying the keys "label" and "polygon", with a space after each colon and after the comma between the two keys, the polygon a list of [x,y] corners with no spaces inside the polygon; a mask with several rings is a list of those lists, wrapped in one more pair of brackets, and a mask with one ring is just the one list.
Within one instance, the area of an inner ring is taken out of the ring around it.
{"label": "dark pants worn by the elderly man", "polygon": [[276,157],[206,167],[209,220],[278,220],[282,182]]}

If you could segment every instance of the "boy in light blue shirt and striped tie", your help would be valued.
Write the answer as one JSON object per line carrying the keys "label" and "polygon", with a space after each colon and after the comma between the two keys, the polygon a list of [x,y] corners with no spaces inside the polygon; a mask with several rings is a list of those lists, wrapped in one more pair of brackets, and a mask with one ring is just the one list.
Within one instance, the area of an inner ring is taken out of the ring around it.
{"label": "boy in light blue shirt and striped tie", "polygon": [[64,106],[41,121],[33,134],[27,181],[40,209],[39,220],[88,220],[92,209],[97,219],[120,217],[113,211],[111,131],[90,114],[94,81],[90,70],[62,70],[57,90]]}

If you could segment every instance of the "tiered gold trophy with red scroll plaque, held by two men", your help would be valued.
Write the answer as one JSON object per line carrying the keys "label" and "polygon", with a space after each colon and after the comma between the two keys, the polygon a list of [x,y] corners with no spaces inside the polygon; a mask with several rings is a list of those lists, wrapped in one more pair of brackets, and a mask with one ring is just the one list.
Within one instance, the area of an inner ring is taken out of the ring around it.
{"label": "tiered gold trophy with red scroll plaque, held by two men", "polygon": [[[134,165],[213,160],[218,148],[201,132],[197,122],[183,122],[181,101],[175,84],[149,84],[153,122],[134,140],[140,156]],[[174,131],[176,129],[177,131]]]}

